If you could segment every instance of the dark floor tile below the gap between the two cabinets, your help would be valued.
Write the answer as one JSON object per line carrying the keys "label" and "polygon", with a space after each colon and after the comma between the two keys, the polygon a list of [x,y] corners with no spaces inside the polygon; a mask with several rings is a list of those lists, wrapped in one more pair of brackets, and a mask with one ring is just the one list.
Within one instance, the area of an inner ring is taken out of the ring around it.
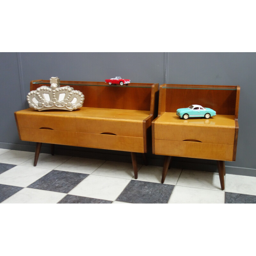
{"label": "dark floor tile below the gap between the two cabinets", "polygon": [[166,204],[174,185],[131,180],[116,201],[133,204]]}

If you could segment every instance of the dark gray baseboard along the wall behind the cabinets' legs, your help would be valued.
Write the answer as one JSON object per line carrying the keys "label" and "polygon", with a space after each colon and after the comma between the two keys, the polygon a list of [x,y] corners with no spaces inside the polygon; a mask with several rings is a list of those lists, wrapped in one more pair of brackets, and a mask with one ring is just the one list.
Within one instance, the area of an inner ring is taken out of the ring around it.
{"label": "dark gray baseboard along the wall behind the cabinets' legs", "polygon": [[[0,142],[0,148],[35,152],[36,143],[31,142],[30,144],[33,145]],[[51,154],[50,144],[43,143],[41,147],[41,153]],[[85,158],[102,159],[108,161],[118,161],[125,163],[132,162],[130,152],[105,150],[97,148],[82,148],[55,145],[55,154],[64,156],[78,156]],[[138,164],[143,164],[142,154],[137,153],[137,161]],[[148,165],[163,166],[164,156],[147,153],[147,161]],[[216,161],[205,159],[173,157],[171,167],[196,171],[218,172]],[[226,173],[256,177],[256,169],[229,166],[228,162],[226,162]]]}

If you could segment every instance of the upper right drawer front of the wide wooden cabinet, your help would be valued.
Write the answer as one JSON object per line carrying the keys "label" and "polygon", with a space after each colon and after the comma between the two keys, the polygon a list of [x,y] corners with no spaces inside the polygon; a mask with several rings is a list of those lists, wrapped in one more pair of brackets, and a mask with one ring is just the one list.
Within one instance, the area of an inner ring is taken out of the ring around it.
{"label": "upper right drawer front of the wide wooden cabinet", "polygon": [[143,121],[76,117],[77,132],[113,133],[118,136],[143,137]]}

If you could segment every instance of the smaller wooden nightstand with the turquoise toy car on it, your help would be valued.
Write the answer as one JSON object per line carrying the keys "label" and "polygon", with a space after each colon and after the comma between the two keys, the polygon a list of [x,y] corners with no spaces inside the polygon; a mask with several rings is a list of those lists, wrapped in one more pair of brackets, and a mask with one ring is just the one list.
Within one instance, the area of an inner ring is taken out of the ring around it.
{"label": "smaller wooden nightstand with the turquoise toy car on it", "polygon": [[[160,85],[158,117],[152,122],[153,154],[164,155],[162,183],[171,156],[217,160],[221,189],[224,190],[224,161],[236,160],[239,86]],[[212,108],[217,115],[180,119],[178,108],[192,104]]]}

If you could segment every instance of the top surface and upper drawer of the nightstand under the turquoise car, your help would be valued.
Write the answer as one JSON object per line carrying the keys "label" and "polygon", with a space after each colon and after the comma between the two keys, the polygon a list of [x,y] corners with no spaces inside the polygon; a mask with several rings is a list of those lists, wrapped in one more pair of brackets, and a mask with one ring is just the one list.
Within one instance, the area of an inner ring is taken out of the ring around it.
{"label": "top surface and upper drawer of the nightstand under the turquoise car", "polygon": [[204,143],[233,145],[235,118],[217,115],[214,118],[180,119],[176,113],[165,112],[154,124],[155,138],[160,140],[197,140]]}

